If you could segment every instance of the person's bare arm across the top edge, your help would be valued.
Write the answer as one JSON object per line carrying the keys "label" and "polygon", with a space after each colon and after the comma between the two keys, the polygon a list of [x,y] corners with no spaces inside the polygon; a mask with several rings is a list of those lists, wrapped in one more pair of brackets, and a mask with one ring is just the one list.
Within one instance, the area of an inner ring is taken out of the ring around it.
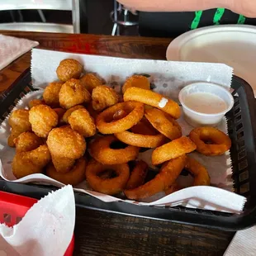
{"label": "person's bare arm across the top edge", "polygon": [[118,0],[145,12],[190,12],[224,7],[246,17],[256,17],[255,0]]}

